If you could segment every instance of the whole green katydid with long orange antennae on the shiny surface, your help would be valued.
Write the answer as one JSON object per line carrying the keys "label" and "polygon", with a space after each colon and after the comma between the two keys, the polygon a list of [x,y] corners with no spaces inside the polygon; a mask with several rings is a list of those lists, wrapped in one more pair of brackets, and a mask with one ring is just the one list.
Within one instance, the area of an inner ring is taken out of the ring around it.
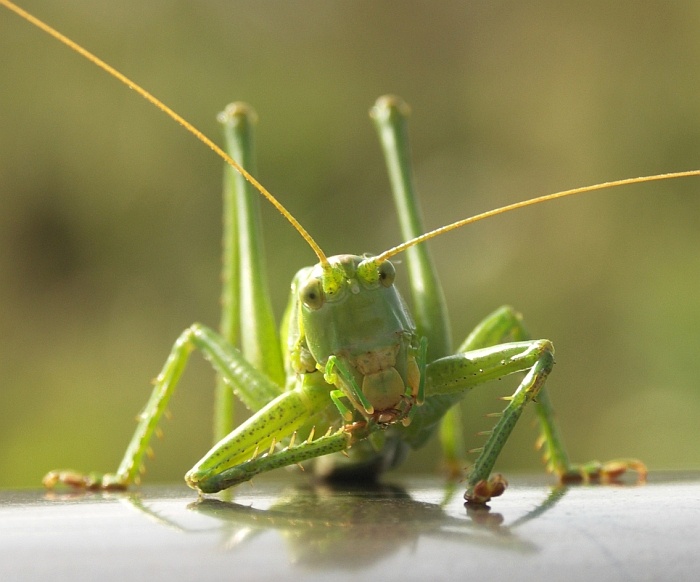
{"label": "whole green katydid with long orange antennae on the shiny surface", "polygon": [[[11,3],[0,1],[15,9]],[[76,50],[80,52],[80,49]],[[82,54],[88,56],[85,51]],[[110,72],[119,76],[111,69]],[[119,78],[134,86],[123,77]],[[142,90],[139,92],[144,94]],[[512,310],[499,310],[484,320],[460,345],[457,355],[450,355],[453,350],[439,283],[425,245],[418,243],[485,216],[418,236],[423,228],[410,183],[403,110],[400,102],[384,99],[375,106],[374,118],[389,161],[403,234],[408,242],[376,257],[342,255],[326,258],[296,220],[271,199],[302,233],[319,259],[319,265],[302,270],[294,280],[293,289],[298,296],[290,301],[291,309],[283,325],[283,329],[289,332],[282,334],[282,337],[289,338],[284,349],[279,347],[279,342],[270,339],[274,338],[275,332],[271,331],[271,317],[265,305],[260,308],[262,315],[257,308],[243,309],[251,318],[241,323],[242,328],[246,326],[246,337],[259,335],[259,338],[253,339],[251,346],[243,346],[241,351],[232,348],[211,330],[191,327],[176,343],[159,376],[153,397],[117,473],[93,477],[55,472],[47,476],[49,485],[62,481],[109,488],[124,487],[134,481],[148,448],[148,440],[156,430],[167,398],[193,347],[201,349],[212,360],[226,383],[233,386],[238,396],[255,412],[250,421],[225,437],[188,473],[188,482],[201,491],[220,490],[257,473],[311,459],[321,459],[319,465],[327,467],[328,463],[323,459],[331,452],[349,452],[349,470],[376,470],[379,466],[392,465],[398,462],[407,447],[423,444],[435,432],[440,419],[449,418],[448,411],[466,391],[489,379],[521,371],[526,372],[525,379],[501,413],[470,473],[467,491],[470,500],[485,501],[502,492],[504,484],[500,479],[489,481],[491,469],[518,416],[531,400],[536,401],[549,462],[560,476],[593,477],[600,471],[611,476],[629,466],[643,472],[643,466],[633,460],[613,462],[602,468],[595,464],[577,467],[569,463],[554,427],[546,391],[542,388],[551,370],[551,344],[531,341],[519,316]],[[243,150],[242,164],[248,168],[247,146],[241,142],[245,142],[249,121],[250,114],[245,108],[230,111],[226,120],[232,125],[232,140],[239,144],[231,147]],[[185,125],[193,131],[189,124]],[[237,171],[251,178],[209,140],[204,138],[204,141]],[[687,172],[620,181],[563,192],[527,204],[623,183],[697,174]],[[230,176],[228,179],[232,180]],[[269,197],[255,180],[253,183]],[[488,215],[504,211],[499,209]],[[248,217],[241,220],[246,225],[254,223]],[[256,237],[255,234],[251,236]],[[404,250],[413,284],[415,327],[392,285],[389,258]],[[264,279],[262,261],[260,257],[251,259],[254,254],[241,256],[241,262],[252,261],[250,267],[241,268],[256,275],[250,279],[258,279],[257,275]],[[261,284],[264,286],[264,282]],[[264,296],[264,291],[254,287],[242,294],[241,301],[253,302]],[[348,310],[348,305],[353,305],[354,309]],[[365,325],[363,315],[371,320],[381,319],[384,336]],[[337,332],[332,333],[334,326],[338,326]],[[506,339],[515,340],[515,343],[502,344]],[[291,350],[287,351],[289,344]],[[260,361],[250,355],[255,351],[272,361]],[[230,388],[226,387],[226,390],[230,391]],[[272,417],[277,423],[274,426]],[[341,460],[340,464],[343,463]],[[333,470],[343,470],[338,468],[338,463],[331,464]]]}

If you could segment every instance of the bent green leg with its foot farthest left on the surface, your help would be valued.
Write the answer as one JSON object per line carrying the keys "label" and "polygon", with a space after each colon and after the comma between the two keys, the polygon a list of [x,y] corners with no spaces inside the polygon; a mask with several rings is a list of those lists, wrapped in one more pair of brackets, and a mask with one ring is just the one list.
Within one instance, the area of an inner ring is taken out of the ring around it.
{"label": "bent green leg with its foot farthest left on the surface", "polygon": [[124,489],[137,481],[151,438],[194,349],[202,352],[250,410],[260,410],[281,394],[282,389],[251,366],[236,348],[211,329],[194,324],[173,345],[116,473],[51,471],[44,477],[44,485],[54,487],[62,483],[85,489]]}

